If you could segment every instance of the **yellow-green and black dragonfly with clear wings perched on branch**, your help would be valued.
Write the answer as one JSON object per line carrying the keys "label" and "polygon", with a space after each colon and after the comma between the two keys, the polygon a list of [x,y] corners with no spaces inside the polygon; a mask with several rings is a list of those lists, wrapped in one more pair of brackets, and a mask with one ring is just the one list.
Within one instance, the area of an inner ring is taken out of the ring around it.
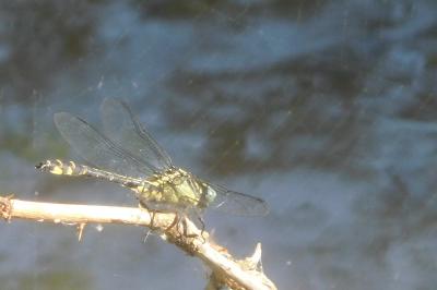
{"label": "yellow-green and black dragonfly with clear wings perched on branch", "polygon": [[263,200],[211,183],[174,166],[126,101],[106,98],[101,106],[101,118],[104,133],[80,117],[55,113],[59,133],[88,165],[50,159],[36,168],[57,176],[120,184],[134,193],[140,206],[153,210],[200,215],[213,208],[243,216],[268,214]]}

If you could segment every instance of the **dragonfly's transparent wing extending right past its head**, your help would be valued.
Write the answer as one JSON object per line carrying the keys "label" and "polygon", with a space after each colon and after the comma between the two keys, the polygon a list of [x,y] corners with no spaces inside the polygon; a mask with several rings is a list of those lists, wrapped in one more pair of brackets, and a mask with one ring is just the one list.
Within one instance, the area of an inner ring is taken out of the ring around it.
{"label": "dragonfly's transparent wing extending right past its head", "polygon": [[240,216],[265,216],[269,213],[268,204],[261,198],[231,191],[217,184],[206,184],[217,194],[209,208]]}

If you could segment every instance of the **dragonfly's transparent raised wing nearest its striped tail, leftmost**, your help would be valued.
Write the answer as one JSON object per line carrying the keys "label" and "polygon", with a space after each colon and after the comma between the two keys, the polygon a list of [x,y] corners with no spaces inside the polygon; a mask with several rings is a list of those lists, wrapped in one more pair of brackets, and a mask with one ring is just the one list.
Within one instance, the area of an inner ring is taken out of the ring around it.
{"label": "dragonfly's transparent raised wing nearest its striped tail, leftmost", "polygon": [[155,168],[152,165],[131,156],[81,118],[58,112],[54,119],[62,137],[93,166],[137,178],[153,174]]}

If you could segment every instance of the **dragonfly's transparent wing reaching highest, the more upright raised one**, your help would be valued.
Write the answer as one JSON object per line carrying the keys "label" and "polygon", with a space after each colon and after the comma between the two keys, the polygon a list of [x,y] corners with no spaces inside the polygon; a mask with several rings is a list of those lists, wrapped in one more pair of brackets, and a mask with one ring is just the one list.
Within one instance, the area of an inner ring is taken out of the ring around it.
{"label": "dragonfly's transparent wing reaching highest, the more upright raised one", "polygon": [[121,100],[105,99],[101,107],[106,135],[142,162],[163,171],[172,167],[168,154],[157,144]]}

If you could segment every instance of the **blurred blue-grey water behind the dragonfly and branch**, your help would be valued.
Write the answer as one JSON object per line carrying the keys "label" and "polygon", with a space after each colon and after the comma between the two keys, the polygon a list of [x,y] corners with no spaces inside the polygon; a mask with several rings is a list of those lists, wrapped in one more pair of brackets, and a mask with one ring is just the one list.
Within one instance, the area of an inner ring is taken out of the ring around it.
{"label": "blurred blue-grey water behind the dragonfly and branch", "polygon": [[[1,1],[0,192],[135,206],[45,176],[78,157],[52,124],[127,99],[176,165],[264,198],[208,212],[280,289],[436,289],[437,2]],[[206,269],[145,229],[0,223],[1,289],[202,289]]]}

